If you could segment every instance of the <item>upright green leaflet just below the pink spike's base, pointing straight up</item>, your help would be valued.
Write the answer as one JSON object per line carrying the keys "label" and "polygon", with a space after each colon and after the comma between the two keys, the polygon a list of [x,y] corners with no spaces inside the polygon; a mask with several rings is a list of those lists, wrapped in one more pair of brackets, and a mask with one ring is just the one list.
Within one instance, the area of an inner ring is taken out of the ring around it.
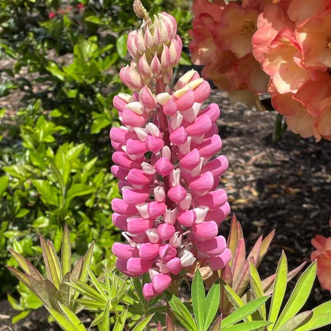
{"label": "upright green leaflet just below the pink spike's base, pointing straight up", "polygon": [[192,306],[198,331],[203,330],[205,314],[205,292],[199,269],[196,270],[191,286]]}

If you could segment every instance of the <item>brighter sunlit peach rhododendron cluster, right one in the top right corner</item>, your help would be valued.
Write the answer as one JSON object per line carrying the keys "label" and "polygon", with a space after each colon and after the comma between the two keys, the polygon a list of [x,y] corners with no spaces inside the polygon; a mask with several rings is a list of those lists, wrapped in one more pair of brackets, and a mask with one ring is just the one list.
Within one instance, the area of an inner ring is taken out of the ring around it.
{"label": "brighter sunlit peach rhododendron cluster, right one in the top right corner", "polygon": [[253,54],[270,75],[272,104],[302,137],[331,140],[331,1],[265,6]]}

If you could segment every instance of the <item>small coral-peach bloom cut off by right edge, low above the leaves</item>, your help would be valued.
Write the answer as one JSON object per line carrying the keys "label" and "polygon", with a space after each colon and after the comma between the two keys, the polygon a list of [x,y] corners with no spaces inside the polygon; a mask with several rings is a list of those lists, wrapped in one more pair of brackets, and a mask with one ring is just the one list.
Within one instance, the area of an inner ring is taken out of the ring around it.
{"label": "small coral-peach bloom cut off by right edge, low above the leaves", "polygon": [[311,254],[311,261],[317,260],[317,277],[321,286],[331,291],[331,237],[316,235],[312,245],[316,251]]}

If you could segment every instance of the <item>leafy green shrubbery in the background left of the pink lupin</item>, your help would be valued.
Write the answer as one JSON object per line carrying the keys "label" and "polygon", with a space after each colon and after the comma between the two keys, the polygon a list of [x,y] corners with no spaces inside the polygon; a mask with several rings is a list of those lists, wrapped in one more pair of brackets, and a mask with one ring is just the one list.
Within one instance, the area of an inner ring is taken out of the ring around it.
{"label": "leafy green shrubbery in the background left of the pink lupin", "polygon": [[[174,15],[187,45],[189,1],[143,3]],[[58,251],[65,224],[76,260],[94,241],[91,269],[113,261],[120,233],[111,221],[118,189],[108,134],[120,125],[112,99],[128,92],[118,77],[127,33],[140,23],[132,0],[0,2],[0,297],[17,284],[4,267],[17,266],[6,247],[42,268],[33,259],[38,233]],[[180,64],[189,64],[184,53]],[[9,112],[10,95],[20,100]],[[28,290],[16,289],[33,306]]]}

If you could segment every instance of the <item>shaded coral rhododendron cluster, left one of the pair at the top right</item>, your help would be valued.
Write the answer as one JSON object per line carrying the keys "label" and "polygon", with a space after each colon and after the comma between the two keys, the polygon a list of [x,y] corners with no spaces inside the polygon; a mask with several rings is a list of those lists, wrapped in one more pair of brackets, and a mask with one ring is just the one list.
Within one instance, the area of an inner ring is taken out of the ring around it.
{"label": "shaded coral rhododendron cluster, left one of the pair at the top right", "polygon": [[255,94],[267,91],[269,77],[254,58],[251,41],[263,8],[261,2],[265,1],[193,1],[191,59],[204,65],[203,77],[220,89]]}

